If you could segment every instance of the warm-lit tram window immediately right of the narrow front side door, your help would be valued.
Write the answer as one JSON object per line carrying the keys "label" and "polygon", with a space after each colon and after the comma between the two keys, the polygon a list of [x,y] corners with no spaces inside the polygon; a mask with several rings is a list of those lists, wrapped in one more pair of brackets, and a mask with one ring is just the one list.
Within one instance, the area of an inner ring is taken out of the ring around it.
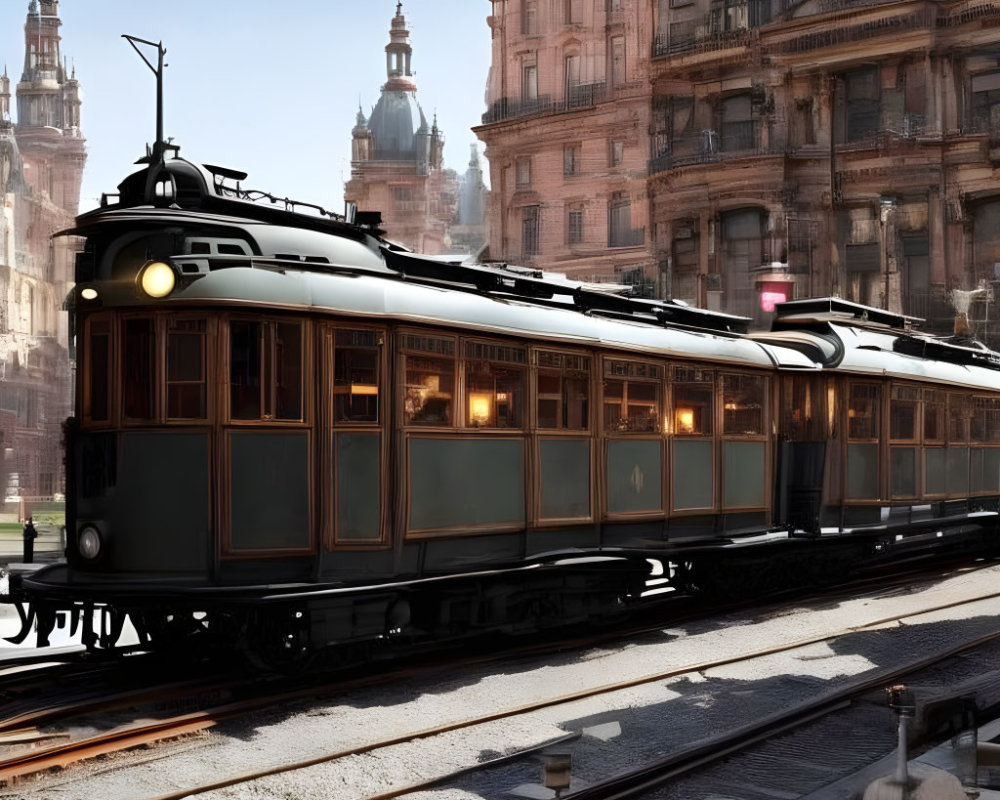
{"label": "warm-lit tram window immediately right of the narrow front side door", "polygon": [[407,425],[448,425],[454,420],[455,342],[436,336],[403,336]]}

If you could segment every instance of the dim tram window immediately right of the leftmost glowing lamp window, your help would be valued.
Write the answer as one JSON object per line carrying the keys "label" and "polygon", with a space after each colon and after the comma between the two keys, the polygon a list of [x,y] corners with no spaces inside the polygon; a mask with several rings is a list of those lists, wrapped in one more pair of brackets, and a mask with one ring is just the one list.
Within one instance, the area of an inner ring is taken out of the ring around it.
{"label": "dim tram window immediately right of the leftmost glowing lamp window", "polygon": [[538,427],[585,431],[590,427],[590,359],[569,353],[539,351]]}

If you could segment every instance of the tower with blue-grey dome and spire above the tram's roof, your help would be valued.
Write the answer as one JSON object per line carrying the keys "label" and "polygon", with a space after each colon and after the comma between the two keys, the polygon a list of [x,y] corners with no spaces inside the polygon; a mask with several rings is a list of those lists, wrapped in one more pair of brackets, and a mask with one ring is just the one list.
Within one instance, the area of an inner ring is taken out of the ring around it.
{"label": "tower with blue-grey dome and spire above the tram's roof", "polygon": [[385,47],[386,81],[368,119],[358,111],[351,132],[351,179],[344,199],[382,213],[390,239],[414,250],[447,252],[457,179],[442,163],[444,137],[417,102],[413,48],[402,2]]}

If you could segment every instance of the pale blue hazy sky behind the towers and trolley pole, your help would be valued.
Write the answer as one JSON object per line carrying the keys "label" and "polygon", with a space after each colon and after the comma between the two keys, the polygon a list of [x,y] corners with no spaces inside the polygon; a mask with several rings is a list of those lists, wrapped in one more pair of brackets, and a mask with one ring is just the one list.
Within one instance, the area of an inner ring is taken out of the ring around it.
{"label": "pale blue hazy sky behind the towers and trolley pole", "polygon": [[[0,0],[11,93],[29,0]],[[121,38],[167,48],[164,133],[197,162],[242,169],[245,186],[343,209],[351,128],[385,82],[395,0],[61,0],[61,52],[83,94],[81,210],[135,169],[156,130],[153,73]],[[445,165],[464,172],[485,110],[487,0],[404,0],[417,100],[435,111]],[[154,64],[155,49],[147,56]],[[16,117],[16,103],[11,99]]]}

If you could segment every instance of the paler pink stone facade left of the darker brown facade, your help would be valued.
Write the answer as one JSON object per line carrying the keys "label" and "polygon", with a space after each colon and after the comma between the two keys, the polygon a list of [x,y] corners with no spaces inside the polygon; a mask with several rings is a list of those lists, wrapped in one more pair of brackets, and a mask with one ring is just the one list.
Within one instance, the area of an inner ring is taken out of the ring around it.
{"label": "paler pink stone facade left of the darker brown facade", "polygon": [[652,292],[649,0],[493,0],[490,255]]}

